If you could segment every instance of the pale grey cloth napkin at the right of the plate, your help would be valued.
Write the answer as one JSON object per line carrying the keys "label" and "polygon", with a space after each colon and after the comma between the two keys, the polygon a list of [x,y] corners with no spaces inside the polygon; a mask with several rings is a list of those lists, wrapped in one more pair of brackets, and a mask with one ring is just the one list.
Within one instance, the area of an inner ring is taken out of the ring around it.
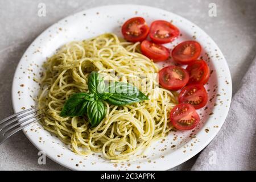
{"label": "pale grey cloth napkin at the right of the plate", "polygon": [[256,57],[232,99],[224,125],[201,152],[192,170],[256,170],[255,70]]}

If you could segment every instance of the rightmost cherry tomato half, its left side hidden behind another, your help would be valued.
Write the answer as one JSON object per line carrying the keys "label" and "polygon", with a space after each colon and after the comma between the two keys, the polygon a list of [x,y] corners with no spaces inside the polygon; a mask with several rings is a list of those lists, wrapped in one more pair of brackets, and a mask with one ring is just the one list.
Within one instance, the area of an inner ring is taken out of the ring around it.
{"label": "rightmost cherry tomato half, its left side hidden behind another", "polygon": [[210,77],[210,69],[204,60],[196,60],[186,68],[189,73],[188,84],[206,84]]}

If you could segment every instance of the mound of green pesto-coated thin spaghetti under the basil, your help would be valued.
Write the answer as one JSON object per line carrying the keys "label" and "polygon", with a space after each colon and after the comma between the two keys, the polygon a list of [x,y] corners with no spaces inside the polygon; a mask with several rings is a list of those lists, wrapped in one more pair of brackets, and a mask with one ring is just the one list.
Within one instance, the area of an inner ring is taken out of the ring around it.
{"label": "mound of green pesto-coated thin spaghetti under the basil", "polygon": [[[177,104],[176,93],[155,86],[155,79],[148,78],[158,73],[158,67],[139,53],[138,44],[103,34],[68,43],[49,57],[43,65],[38,96],[44,129],[71,144],[77,154],[102,152],[112,162],[141,156],[152,142],[165,137],[172,129],[168,115]],[[106,117],[94,128],[86,117],[60,117],[73,93],[88,91],[92,71],[99,72],[104,80],[129,81],[149,100],[126,106],[105,103]]]}

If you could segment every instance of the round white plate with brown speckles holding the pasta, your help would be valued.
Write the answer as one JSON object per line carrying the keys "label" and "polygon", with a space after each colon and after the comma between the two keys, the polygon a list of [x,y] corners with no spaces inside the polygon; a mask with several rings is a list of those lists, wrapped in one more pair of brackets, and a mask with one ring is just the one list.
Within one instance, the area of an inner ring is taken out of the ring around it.
{"label": "round white plate with brown speckles holding the pasta", "polygon": [[[134,16],[143,16],[147,23],[164,19],[172,21],[182,34],[169,45],[170,47],[184,40],[196,39],[203,51],[201,56],[207,60],[212,71],[209,84],[205,85],[209,101],[199,110],[201,122],[194,131],[172,132],[165,140],[152,144],[143,158],[134,162],[110,163],[100,154],[80,156],[73,153],[39,123],[24,129],[30,141],[55,162],[75,170],[166,170],[192,158],[215,137],[228,114],[232,97],[232,82],[228,65],[220,49],[213,40],[195,24],[180,16],[148,6],[112,5],[96,7],[68,16],[53,24],[28,47],[16,68],[13,80],[13,107],[18,112],[36,105],[33,100],[38,94],[38,84],[33,81],[39,77],[41,66],[56,49],[73,40],[83,40],[105,32],[121,35],[122,23]],[[216,105],[217,104],[217,105]]]}

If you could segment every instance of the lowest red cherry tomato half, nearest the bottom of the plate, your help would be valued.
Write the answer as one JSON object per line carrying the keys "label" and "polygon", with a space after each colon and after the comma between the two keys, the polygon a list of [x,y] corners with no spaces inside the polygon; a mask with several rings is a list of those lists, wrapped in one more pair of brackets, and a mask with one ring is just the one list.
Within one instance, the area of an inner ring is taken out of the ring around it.
{"label": "lowest red cherry tomato half, nearest the bottom of the plate", "polygon": [[190,104],[178,104],[171,110],[170,120],[178,130],[191,130],[200,121],[195,108]]}

